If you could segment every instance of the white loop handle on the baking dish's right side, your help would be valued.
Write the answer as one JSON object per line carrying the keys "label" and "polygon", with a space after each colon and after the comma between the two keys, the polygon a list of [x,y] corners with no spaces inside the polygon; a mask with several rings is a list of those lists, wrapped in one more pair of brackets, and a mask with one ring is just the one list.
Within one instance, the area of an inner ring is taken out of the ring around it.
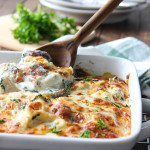
{"label": "white loop handle on the baking dish's right side", "polygon": [[[142,98],[142,108],[144,113],[150,113],[150,99]],[[142,123],[138,142],[150,137],[150,120]]]}

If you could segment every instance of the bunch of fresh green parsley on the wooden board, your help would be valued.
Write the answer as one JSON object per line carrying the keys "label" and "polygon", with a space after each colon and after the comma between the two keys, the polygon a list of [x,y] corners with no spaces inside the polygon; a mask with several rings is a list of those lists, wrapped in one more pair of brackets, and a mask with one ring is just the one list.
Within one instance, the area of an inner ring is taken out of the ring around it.
{"label": "bunch of fresh green parsley on the wooden board", "polygon": [[38,43],[43,39],[53,41],[62,35],[77,32],[73,18],[59,18],[54,12],[46,13],[40,5],[36,12],[31,12],[18,3],[16,11],[17,16],[12,15],[12,18],[18,26],[12,33],[21,43]]}

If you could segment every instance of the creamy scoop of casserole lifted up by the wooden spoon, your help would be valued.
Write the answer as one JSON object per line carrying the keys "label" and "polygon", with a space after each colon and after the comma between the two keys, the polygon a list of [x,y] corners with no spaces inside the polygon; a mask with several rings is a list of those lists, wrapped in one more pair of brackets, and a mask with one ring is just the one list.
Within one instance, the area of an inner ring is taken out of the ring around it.
{"label": "creamy scoop of casserole lifted up by the wooden spoon", "polygon": [[63,89],[71,83],[73,69],[56,67],[42,56],[26,56],[18,64],[0,65],[0,93]]}

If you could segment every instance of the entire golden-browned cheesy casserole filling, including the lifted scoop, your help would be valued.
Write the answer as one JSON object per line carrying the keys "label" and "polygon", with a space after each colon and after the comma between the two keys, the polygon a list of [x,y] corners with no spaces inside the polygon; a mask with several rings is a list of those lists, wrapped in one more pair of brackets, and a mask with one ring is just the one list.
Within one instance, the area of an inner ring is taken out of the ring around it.
{"label": "entire golden-browned cheesy casserole filling, including the lifted scoop", "polygon": [[[83,138],[131,134],[126,81],[107,74],[74,79],[69,87],[72,68],[56,67],[41,56],[0,68],[5,93],[0,95],[0,132]],[[69,95],[60,94],[61,88]]]}

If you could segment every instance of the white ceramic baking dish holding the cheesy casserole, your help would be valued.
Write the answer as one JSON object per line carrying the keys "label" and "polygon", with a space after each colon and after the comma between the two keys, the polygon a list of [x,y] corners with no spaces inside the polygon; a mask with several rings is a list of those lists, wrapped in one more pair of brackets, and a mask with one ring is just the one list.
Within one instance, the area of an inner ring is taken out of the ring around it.
{"label": "white ceramic baking dish holding the cheesy casserole", "polygon": [[[0,51],[0,64],[18,62],[20,57],[21,52]],[[92,74],[110,72],[126,79],[126,75],[130,73],[131,135],[117,139],[85,139],[0,133],[0,149],[129,150],[137,141],[150,136],[150,121],[142,124],[141,128],[142,102],[140,86],[136,69],[130,61],[116,57],[78,55],[76,64]],[[145,107],[150,106],[149,101],[144,102]],[[146,111],[148,110],[147,107]]]}

